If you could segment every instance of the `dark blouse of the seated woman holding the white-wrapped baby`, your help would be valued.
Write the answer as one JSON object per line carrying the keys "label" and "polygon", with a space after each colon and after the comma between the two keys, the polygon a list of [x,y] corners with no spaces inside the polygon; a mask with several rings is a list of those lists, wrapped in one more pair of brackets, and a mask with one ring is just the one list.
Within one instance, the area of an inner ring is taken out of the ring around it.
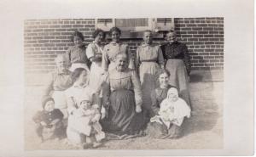
{"label": "dark blouse of the seated woman holding the white-wrapped baby", "polygon": [[156,88],[151,93],[151,101],[152,101],[152,109],[154,111],[154,115],[158,115],[161,102],[167,97],[168,90],[173,87],[169,85],[167,88]]}

